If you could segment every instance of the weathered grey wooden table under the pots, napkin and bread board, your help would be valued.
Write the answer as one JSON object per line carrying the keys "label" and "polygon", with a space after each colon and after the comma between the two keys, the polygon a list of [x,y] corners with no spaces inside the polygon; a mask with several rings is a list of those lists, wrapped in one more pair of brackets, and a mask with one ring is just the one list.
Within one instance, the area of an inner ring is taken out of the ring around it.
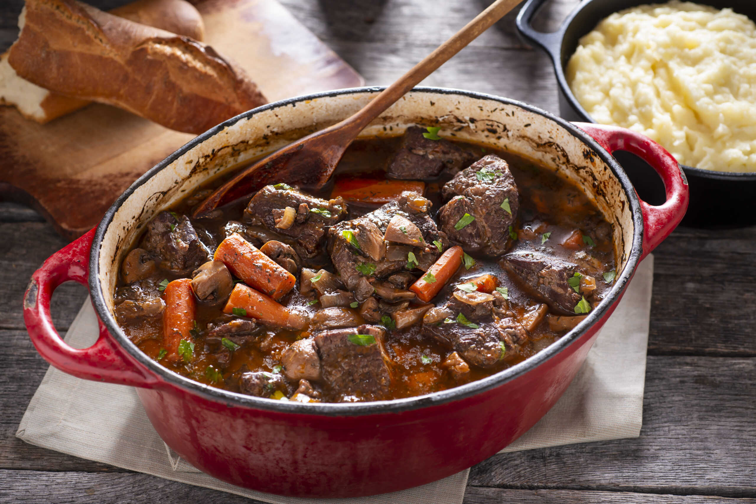
{"label": "weathered grey wooden table under the pots, napkin and bread board", "polygon": [[[119,0],[93,2],[101,8]],[[362,73],[388,84],[488,5],[487,0],[283,0]],[[554,0],[553,27],[576,5]],[[20,0],[0,2],[0,45]],[[514,14],[426,80],[516,98],[554,113],[550,62],[516,36]],[[712,209],[722,203],[712,202]],[[48,364],[26,336],[29,275],[64,246],[36,213],[0,204],[0,502],[250,502],[78,459],[14,437]],[[640,438],[497,455],[472,468],[465,502],[756,502],[756,228],[679,228],[655,252]],[[53,298],[60,332],[86,292]]]}

